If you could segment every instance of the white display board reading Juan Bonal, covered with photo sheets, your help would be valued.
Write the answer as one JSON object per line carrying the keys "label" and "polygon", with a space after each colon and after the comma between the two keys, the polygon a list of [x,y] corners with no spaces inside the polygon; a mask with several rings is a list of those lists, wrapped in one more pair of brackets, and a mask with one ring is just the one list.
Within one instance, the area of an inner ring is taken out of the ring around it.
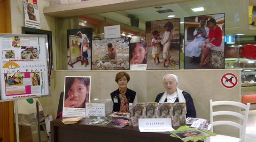
{"label": "white display board reading Juan Bonal, covered with photo sheets", "polygon": [[0,102],[49,97],[47,35],[0,34]]}

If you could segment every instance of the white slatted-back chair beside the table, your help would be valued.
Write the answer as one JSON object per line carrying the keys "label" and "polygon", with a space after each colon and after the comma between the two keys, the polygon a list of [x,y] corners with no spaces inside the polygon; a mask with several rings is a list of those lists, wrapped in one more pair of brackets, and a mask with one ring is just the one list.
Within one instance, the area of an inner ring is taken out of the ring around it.
{"label": "white slatted-back chair beside the table", "polygon": [[[232,112],[232,111],[213,112],[213,106],[217,106],[217,105],[232,105],[232,106],[237,106],[237,107],[243,108],[243,109],[245,109],[245,115],[242,115],[238,112]],[[215,102],[213,102],[212,100],[210,100],[210,124],[212,124],[211,132],[213,132],[213,126],[230,125],[230,126],[239,128],[241,130],[242,135],[241,135],[241,139],[236,138],[236,137],[226,136],[226,135],[216,135],[216,136],[207,137],[206,142],[245,142],[246,125],[247,125],[249,109],[250,109],[250,103],[247,103],[247,105],[245,105],[240,102],[234,102],[234,101],[215,101]],[[239,123],[236,123],[233,121],[213,121],[213,117],[218,116],[218,115],[235,116],[235,117],[243,120],[243,124],[240,125]]]}

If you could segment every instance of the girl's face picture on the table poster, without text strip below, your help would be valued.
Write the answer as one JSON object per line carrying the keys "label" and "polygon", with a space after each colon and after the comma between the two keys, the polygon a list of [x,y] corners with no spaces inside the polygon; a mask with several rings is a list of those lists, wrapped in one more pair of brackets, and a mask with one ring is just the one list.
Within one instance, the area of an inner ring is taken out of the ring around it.
{"label": "girl's face picture on the table poster, without text strip below", "polygon": [[90,100],[90,77],[65,77],[63,107],[85,108]]}

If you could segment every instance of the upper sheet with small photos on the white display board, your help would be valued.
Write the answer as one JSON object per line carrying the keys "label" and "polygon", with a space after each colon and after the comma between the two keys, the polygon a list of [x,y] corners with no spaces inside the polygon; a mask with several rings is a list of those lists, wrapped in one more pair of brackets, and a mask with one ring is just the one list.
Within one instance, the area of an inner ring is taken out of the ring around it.
{"label": "upper sheet with small photos on the white display board", "polygon": [[41,60],[40,45],[39,37],[0,37],[1,59],[2,61]]}

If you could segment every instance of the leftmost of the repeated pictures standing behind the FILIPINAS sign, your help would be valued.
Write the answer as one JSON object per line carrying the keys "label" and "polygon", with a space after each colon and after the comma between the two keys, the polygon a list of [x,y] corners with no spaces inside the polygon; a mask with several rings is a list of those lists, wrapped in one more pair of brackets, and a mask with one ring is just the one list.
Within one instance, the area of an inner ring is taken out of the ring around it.
{"label": "leftmost of the repeated pictures standing behind the FILIPINAS sign", "polygon": [[145,118],[145,104],[130,104],[131,126],[139,126],[139,119]]}

